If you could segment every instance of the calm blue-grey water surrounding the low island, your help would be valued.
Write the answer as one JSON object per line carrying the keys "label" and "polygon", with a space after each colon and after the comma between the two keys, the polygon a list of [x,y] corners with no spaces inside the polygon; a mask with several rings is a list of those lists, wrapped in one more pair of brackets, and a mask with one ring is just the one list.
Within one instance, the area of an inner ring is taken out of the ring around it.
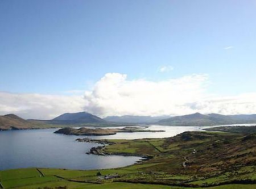
{"label": "calm blue-grey water surrounding the low island", "polygon": [[[168,127],[152,125],[148,129],[161,129],[158,133],[117,133],[92,138],[162,138],[184,131],[200,131],[199,127]],[[38,129],[0,132],[0,170],[24,167],[51,167],[65,169],[107,169],[131,165],[140,157],[94,156],[85,154],[98,144],[77,142],[79,136],[53,134],[57,129]],[[80,136],[82,137],[82,136]]]}

